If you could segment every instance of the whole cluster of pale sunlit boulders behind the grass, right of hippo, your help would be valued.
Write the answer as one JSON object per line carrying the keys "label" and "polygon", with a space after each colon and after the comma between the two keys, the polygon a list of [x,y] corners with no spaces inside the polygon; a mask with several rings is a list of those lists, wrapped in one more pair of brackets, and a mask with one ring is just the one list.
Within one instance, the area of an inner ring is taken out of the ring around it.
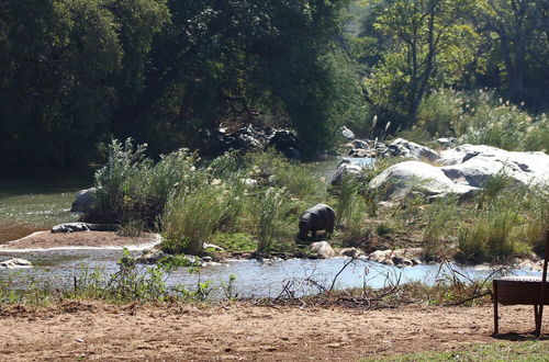
{"label": "whole cluster of pale sunlit boulders behind the grass, right of hippo", "polygon": [[[451,139],[445,142],[452,143]],[[518,152],[483,145],[462,145],[437,152],[397,138],[386,146],[385,151],[377,155],[410,159],[388,168],[370,181],[370,189],[380,191],[382,200],[403,199],[412,192],[428,197],[468,196],[497,174],[505,174],[525,185],[549,183],[549,156],[539,151]],[[332,184],[339,184],[345,174],[362,174],[363,168],[352,159],[343,160]]]}

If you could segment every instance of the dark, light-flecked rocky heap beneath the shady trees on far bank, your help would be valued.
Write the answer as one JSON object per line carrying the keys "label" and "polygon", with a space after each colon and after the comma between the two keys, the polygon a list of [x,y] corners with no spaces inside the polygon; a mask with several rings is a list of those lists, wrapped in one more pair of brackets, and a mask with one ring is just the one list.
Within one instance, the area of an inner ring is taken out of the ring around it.
{"label": "dark, light-flecked rocky heap beneath the shady trees on far bank", "polygon": [[300,158],[302,147],[294,132],[248,125],[228,133],[224,128],[201,131],[201,155],[217,157],[231,150],[248,151],[274,147],[288,158]]}

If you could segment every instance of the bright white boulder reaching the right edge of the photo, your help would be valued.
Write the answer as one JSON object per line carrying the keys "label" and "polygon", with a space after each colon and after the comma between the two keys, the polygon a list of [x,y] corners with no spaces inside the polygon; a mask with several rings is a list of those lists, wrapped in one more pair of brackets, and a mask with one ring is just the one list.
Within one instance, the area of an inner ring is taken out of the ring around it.
{"label": "bright white boulder reaching the right edge of the photo", "polygon": [[442,172],[453,182],[475,188],[502,173],[526,185],[549,183],[549,156],[545,152],[462,145],[442,151],[439,163],[442,165]]}

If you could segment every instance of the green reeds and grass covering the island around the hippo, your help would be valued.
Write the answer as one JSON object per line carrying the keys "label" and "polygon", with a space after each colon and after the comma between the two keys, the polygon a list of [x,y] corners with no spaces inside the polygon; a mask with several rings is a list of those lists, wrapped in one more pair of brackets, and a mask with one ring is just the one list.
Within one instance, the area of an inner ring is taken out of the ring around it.
{"label": "green reeds and grass covering the island around the hippo", "polygon": [[[300,214],[327,203],[336,212],[335,247],[423,247],[426,260],[508,261],[542,253],[549,197],[542,186],[517,184],[504,172],[469,200],[435,202],[412,194],[395,206],[379,204],[368,182],[402,158],[384,158],[363,174],[328,186],[312,163],[288,161],[273,150],[201,160],[179,150],[154,163],[144,146],[113,142],[96,174],[98,206],[90,222],[120,223],[120,233],[154,229],[169,253],[203,254],[204,242],[227,251],[310,256],[299,240]],[[326,238],[321,236],[321,238]],[[205,250],[208,252],[208,250]]]}

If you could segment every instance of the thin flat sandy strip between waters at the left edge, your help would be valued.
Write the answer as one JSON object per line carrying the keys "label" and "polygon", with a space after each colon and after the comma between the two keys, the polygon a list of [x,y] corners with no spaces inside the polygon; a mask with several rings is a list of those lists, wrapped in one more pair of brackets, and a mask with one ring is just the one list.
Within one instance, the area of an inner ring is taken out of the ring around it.
{"label": "thin flat sandy strip between waters at the left edge", "polygon": [[141,237],[123,237],[112,231],[56,233],[37,231],[24,238],[0,245],[1,250],[49,249],[64,247],[122,247],[150,244],[154,234]]}

